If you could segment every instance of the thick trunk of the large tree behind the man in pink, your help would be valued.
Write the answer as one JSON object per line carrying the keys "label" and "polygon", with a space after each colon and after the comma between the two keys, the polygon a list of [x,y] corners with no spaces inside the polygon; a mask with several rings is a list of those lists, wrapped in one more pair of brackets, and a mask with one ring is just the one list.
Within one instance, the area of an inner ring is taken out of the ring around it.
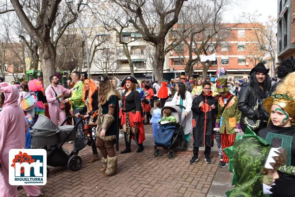
{"label": "thick trunk of the large tree behind the man in pink", "polygon": [[55,59],[56,51],[49,41],[39,43],[40,59],[42,62],[44,88],[50,85],[49,78],[56,74]]}

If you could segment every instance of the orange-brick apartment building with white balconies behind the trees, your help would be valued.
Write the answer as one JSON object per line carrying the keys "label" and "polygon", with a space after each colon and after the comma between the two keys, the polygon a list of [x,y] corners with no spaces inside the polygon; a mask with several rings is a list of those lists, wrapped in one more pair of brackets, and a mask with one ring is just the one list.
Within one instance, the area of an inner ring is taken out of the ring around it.
{"label": "orange-brick apartment building with white balconies behind the trees", "polygon": [[[228,28],[222,31],[223,38],[221,40],[219,39],[218,43],[214,39],[210,43],[215,48],[216,60],[212,61],[212,65],[207,72],[207,77],[215,76],[219,65],[220,68],[226,69],[229,78],[246,78],[251,69],[265,58],[265,53],[260,50],[259,44],[255,40],[252,24],[224,24],[224,26]],[[255,27],[263,28],[259,24]],[[217,38],[218,36],[220,36],[220,33],[215,37]],[[214,53],[213,48],[210,50],[209,55],[210,53]],[[179,56],[179,54],[182,55]],[[185,44],[180,44],[172,50],[169,53],[169,65],[171,69],[175,70],[177,74],[183,74],[185,62],[189,58],[188,55],[188,49]],[[203,77],[202,64],[199,62],[194,67],[194,76]]]}

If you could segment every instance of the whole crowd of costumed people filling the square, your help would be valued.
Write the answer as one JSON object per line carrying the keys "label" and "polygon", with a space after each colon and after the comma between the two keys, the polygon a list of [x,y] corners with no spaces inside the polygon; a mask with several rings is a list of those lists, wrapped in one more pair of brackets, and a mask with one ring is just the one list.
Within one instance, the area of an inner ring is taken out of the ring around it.
{"label": "whole crowd of costumed people filling the square", "polygon": [[[6,196],[17,196],[17,188],[8,183],[8,166],[3,161],[8,160],[10,148],[30,148],[29,129],[38,114],[46,114],[59,125],[66,117],[65,105],[68,104],[70,114],[75,115],[74,124],[83,117],[78,127],[79,136],[89,138],[91,163],[100,160],[99,149],[102,155],[99,171],[106,177],[117,172],[120,128],[125,142],[125,149],[120,153],[132,151],[132,139],[138,146],[136,152],[140,153],[145,149],[144,124],[150,123],[154,134],[159,121],[175,121],[168,109],[161,113],[161,108],[179,105],[183,138],[189,141],[191,134],[193,136],[189,163],[196,165],[200,159],[199,148],[205,147],[204,159],[211,164],[215,139],[219,149],[218,166],[229,166],[234,172],[235,187],[226,193],[228,197],[293,197],[295,60],[291,57],[281,63],[279,82],[271,84],[268,71],[263,63],[258,63],[250,72],[249,83],[239,82],[238,86],[227,78],[202,81],[183,76],[169,83],[150,84],[140,83],[133,76],[126,76],[120,82],[102,75],[96,84],[85,73],[77,71],[72,73],[72,84],[69,82],[66,86],[59,84],[57,76],[51,76],[51,85],[45,91],[42,81],[37,79],[20,85],[2,82],[0,178],[4,182],[0,183],[0,190]],[[29,100],[34,102],[28,104]],[[16,124],[13,122],[16,119],[22,121]],[[244,134],[237,135],[238,132]],[[42,195],[39,187],[24,189],[29,196]]]}

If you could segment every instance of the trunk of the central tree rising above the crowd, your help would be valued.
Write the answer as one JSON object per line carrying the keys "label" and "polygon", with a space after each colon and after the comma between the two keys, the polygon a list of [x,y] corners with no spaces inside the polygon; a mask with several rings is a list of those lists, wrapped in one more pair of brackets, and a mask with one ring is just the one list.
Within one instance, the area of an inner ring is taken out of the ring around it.
{"label": "trunk of the central tree rising above the crowd", "polygon": [[163,81],[163,70],[164,70],[164,62],[165,62],[165,55],[164,55],[164,47],[165,47],[165,40],[160,41],[156,46],[155,58],[154,63],[152,65],[153,74],[155,76],[154,81],[158,81],[160,83]]}

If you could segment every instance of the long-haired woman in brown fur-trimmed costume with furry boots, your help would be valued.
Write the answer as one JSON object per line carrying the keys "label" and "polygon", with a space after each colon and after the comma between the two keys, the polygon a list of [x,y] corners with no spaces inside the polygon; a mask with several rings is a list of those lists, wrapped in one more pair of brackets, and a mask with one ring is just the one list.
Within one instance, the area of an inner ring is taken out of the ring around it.
{"label": "long-haired woman in brown fur-trimmed costume with furry boots", "polygon": [[117,171],[117,156],[114,145],[118,149],[119,104],[121,96],[105,75],[98,79],[98,118],[96,129],[96,146],[100,150],[102,176],[112,176]]}

